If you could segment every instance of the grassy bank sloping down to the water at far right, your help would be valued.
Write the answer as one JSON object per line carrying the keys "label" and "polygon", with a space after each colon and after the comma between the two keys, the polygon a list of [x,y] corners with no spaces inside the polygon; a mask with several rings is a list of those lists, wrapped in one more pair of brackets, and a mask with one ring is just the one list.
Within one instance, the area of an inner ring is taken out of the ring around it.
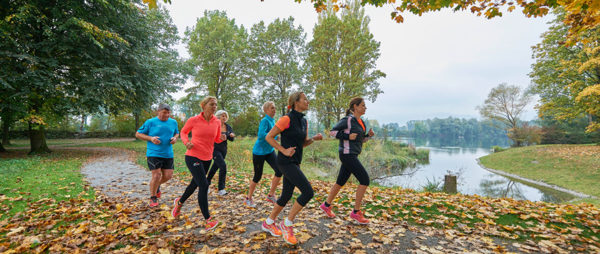
{"label": "grassy bank sloping down to the water at far right", "polygon": [[[488,168],[600,197],[600,146],[539,145],[481,158]],[[584,199],[600,205],[599,199]]]}

